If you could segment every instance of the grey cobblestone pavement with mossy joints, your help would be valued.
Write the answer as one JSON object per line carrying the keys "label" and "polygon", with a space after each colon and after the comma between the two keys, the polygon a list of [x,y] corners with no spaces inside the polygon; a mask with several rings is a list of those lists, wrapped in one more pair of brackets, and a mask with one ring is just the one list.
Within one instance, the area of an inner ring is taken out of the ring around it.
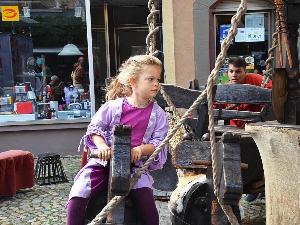
{"label": "grey cobblestone pavement with mossy joints", "polygon": [[[51,225],[66,224],[67,203],[73,179],[80,170],[81,158],[61,158],[68,183],[18,190],[16,196],[7,199],[0,195],[0,225]],[[265,224],[265,201],[241,200],[245,211],[243,224]],[[166,204],[165,204],[166,205]],[[167,207],[167,206],[166,206]],[[168,216],[168,215],[166,215]]]}

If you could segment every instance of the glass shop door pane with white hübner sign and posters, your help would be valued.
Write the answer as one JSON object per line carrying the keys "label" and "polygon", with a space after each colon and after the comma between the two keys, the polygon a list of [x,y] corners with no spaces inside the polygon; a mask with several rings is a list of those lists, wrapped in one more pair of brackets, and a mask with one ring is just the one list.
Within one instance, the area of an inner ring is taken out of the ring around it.
{"label": "glass shop door pane with white h\u00fcbner sign and posters", "polygon": [[[220,53],[221,42],[227,37],[233,14],[215,14],[215,57]],[[238,33],[227,50],[227,58],[221,67],[218,84],[229,82],[227,61],[242,57],[247,62],[247,73],[259,73],[266,69],[269,48],[269,13],[247,13],[242,16]]]}

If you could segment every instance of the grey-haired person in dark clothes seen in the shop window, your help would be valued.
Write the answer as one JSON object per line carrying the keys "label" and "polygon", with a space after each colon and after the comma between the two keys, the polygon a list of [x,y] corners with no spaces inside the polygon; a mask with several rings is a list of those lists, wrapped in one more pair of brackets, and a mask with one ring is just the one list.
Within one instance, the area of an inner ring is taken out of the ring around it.
{"label": "grey-haired person in dark clothes seen in the shop window", "polygon": [[59,82],[58,76],[51,76],[50,83],[46,86],[46,91],[49,94],[50,101],[58,101],[59,105],[64,104],[62,98],[64,97],[64,82]]}

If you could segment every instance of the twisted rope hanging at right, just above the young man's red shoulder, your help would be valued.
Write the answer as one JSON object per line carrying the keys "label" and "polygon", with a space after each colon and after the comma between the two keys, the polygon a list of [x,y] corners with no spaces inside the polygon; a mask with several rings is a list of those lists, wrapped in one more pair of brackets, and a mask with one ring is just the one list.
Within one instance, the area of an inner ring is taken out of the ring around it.
{"label": "twisted rope hanging at right, just above the young man's red shoulder", "polygon": [[262,84],[261,87],[265,88],[267,83],[272,79],[271,71],[272,71],[272,61],[275,58],[275,49],[278,47],[278,34],[275,32],[272,34],[273,42],[272,42],[272,47],[269,48],[268,53],[269,53],[269,58],[265,61],[267,64],[266,69],[267,70],[262,70]]}

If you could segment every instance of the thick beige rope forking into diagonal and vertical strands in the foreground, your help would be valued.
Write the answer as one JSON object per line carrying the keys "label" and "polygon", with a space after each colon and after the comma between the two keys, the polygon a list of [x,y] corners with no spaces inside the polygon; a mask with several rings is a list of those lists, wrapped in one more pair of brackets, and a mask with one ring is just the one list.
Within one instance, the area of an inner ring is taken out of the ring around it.
{"label": "thick beige rope forking into diagonal and vertical strands in the foreground", "polygon": [[[232,27],[228,32],[227,38],[222,41],[221,44],[221,52],[217,57],[215,68],[211,71],[210,75],[208,76],[207,87],[205,90],[198,96],[196,101],[191,105],[191,107],[184,113],[182,118],[179,120],[177,125],[172,129],[172,131],[167,135],[167,137],[162,141],[162,143],[158,146],[158,148],[153,152],[153,154],[149,157],[149,159],[145,162],[143,167],[137,171],[137,173],[130,179],[130,190],[131,188],[137,183],[140,179],[143,172],[149,167],[152,161],[156,158],[156,156],[161,152],[161,149],[168,143],[171,137],[176,133],[176,131],[183,125],[185,120],[189,117],[190,113],[196,109],[200,102],[208,96],[208,115],[209,115],[209,127],[210,127],[210,135],[211,135],[211,158],[212,158],[212,170],[213,170],[213,179],[214,179],[214,189],[215,195],[218,198],[218,184],[219,179],[217,177],[217,157],[216,157],[216,147],[215,147],[215,134],[214,134],[214,114],[213,114],[213,98],[212,98],[212,87],[217,82],[218,72],[220,67],[226,60],[227,56],[227,49],[230,46],[231,39],[235,37],[237,34],[237,26],[241,21],[241,16],[244,15],[247,11],[247,1],[248,0],[241,0],[241,4],[238,7],[237,13],[232,17],[231,24]],[[113,208],[119,203],[120,200],[125,198],[125,196],[114,196],[113,199],[102,209],[102,211],[93,219],[90,225],[100,225],[102,220],[107,217],[107,215],[112,211]],[[218,199],[219,201],[219,199]],[[219,201],[220,202],[220,201]],[[238,225],[238,221],[235,215],[232,212],[232,208],[230,205],[223,205],[220,204],[223,211],[227,215],[229,222],[233,225]]]}

